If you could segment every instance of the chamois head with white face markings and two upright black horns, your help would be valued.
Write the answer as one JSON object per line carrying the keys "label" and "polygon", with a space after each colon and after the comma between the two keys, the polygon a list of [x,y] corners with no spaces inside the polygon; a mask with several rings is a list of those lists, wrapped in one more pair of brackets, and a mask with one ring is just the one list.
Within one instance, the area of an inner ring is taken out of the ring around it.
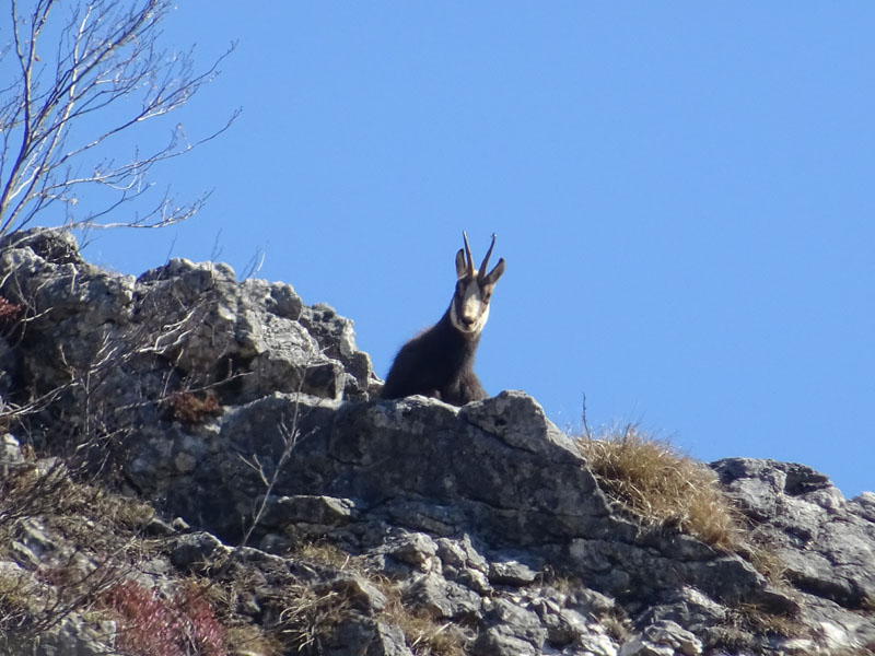
{"label": "chamois head with white face markings and two upright black horns", "polygon": [[476,336],[486,326],[489,318],[489,300],[492,296],[492,289],[504,273],[504,258],[499,260],[495,268],[489,273],[486,266],[492,248],[495,246],[495,234],[492,234],[492,244],[486,251],[483,263],[479,269],[474,268],[471,249],[468,246],[468,235],[463,231],[465,248],[459,248],[456,253],[456,292],[450,305],[450,320],[453,327],[465,335]]}

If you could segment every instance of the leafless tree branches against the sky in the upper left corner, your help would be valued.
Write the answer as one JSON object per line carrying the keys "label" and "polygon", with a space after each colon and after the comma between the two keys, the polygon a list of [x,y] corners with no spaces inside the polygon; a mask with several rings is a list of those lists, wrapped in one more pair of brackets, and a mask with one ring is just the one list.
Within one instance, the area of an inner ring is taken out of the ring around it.
{"label": "leafless tree branches against the sky in the upper left corner", "polygon": [[135,210],[133,219],[107,221],[121,206],[150,202],[156,164],[211,141],[240,115],[232,112],[206,137],[189,140],[177,124],[163,147],[112,154],[122,134],[129,143],[144,136],[145,124],[158,125],[153,119],[185,105],[234,50],[231,44],[196,72],[194,48],[161,47],[160,24],[171,8],[171,0],[89,0],[74,3],[65,19],[67,8],[57,0],[38,0],[31,10],[12,1],[15,66],[12,80],[0,83],[0,237],[48,216],[56,204],[60,222],[71,227],[159,227],[202,207],[209,194],[176,203],[165,192],[151,209]]}

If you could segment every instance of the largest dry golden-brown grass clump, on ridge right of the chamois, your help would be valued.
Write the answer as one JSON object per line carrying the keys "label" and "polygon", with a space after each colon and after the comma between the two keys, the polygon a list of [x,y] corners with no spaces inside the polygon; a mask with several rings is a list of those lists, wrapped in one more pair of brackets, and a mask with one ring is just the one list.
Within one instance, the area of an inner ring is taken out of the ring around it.
{"label": "largest dry golden-brown grass clump, on ridge right of the chamois", "polygon": [[727,551],[742,546],[740,515],[705,465],[629,425],[578,446],[599,484],[644,524],[670,526]]}

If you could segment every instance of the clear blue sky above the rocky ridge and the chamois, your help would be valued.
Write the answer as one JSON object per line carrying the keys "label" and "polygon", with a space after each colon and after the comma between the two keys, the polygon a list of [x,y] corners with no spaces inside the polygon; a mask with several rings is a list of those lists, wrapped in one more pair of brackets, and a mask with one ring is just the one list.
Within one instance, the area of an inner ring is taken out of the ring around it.
{"label": "clear blue sky above the rocky ridge and the chamois", "polygon": [[462,230],[508,260],[477,370],[560,426],[875,489],[875,3],[180,3],[222,75],[155,171],[194,221],[97,235],[140,273],[219,259],[355,321],[385,376]]}

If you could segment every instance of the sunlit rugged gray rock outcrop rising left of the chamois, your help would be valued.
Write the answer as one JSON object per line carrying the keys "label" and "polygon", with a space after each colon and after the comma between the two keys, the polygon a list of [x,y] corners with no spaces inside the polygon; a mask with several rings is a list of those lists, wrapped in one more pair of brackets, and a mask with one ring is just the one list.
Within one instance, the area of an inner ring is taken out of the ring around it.
{"label": "sunlit rugged gray rock outcrop rising left of the chamois", "polygon": [[84,262],[67,233],[30,231],[2,245],[0,271],[3,296],[32,317],[24,377],[43,386],[69,384],[71,370],[105,360],[129,365],[129,375],[237,383],[236,400],[273,391],[362,398],[375,383],[351,321],[332,316],[311,333],[290,285],[237,283],[226,265],[176,258],[135,280]]}

